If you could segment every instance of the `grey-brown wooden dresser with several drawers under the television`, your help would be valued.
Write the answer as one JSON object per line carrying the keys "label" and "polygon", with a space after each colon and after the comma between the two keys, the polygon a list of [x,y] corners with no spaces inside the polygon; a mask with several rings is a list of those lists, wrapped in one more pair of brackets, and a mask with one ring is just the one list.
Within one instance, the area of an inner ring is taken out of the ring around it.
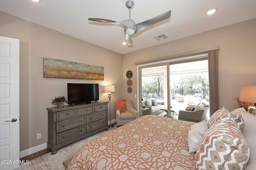
{"label": "grey-brown wooden dresser with several drawers under the television", "polygon": [[108,102],[98,101],[62,108],[48,107],[47,149],[57,149],[80,139],[108,130]]}

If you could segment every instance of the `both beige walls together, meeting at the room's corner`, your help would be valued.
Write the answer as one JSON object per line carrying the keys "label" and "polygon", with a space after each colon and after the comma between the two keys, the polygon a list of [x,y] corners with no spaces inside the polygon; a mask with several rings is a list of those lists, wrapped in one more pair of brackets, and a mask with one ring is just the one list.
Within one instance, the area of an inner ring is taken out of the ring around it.
{"label": "both beige walls together, meeting at the room's corner", "polygon": [[[108,100],[103,86],[114,84],[116,92],[111,98],[111,117],[115,119],[116,99],[131,99],[137,108],[134,62],[208,47],[220,46],[220,107],[232,110],[240,86],[256,83],[255,30],[256,19],[253,19],[121,55],[0,12],[0,36],[20,39],[20,150],[47,142],[46,107],[51,107],[54,96],[67,96],[67,83],[100,84],[100,100]],[[103,66],[104,81],[43,78],[43,57]],[[132,93],[127,92],[128,70],[133,72]],[[36,140],[37,133],[42,133],[42,139]]]}

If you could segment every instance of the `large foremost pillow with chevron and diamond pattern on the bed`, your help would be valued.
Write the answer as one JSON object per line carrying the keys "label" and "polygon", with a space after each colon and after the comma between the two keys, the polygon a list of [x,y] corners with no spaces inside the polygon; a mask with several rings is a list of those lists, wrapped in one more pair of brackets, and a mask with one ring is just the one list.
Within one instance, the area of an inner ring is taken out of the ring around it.
{"label": "large foremost pillow with chevron and diamond pattern on the bed", "polygon": [[198,170],[243,170],[250,158],[249,147],[232,114],[216,121],[204,134],[196,152]]}

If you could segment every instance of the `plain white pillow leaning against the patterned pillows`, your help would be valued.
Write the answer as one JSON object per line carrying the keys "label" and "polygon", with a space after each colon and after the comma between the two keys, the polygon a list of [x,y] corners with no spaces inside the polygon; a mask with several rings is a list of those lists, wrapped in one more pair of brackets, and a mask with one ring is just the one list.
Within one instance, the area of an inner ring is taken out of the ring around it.
{"label": "plain white pillow leaning against the patterned pillows", "polygon": [[188,131],[188,149],[189,152],[196,152],[204,133],[208,130],[206,121],[200,121],[190,127]]}

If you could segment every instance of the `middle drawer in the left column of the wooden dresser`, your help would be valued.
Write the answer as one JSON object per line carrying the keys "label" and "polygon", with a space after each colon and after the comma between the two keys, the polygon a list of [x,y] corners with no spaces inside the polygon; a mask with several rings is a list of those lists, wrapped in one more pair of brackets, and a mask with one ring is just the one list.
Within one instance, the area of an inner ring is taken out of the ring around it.
{"label": "middle drawer in the left column of the wooden dresser", "polygon": [[56,133],[71,129],[73,127],[77,127],[80,125],[84,125],[86,123],[86,117],[79,117],[75,119],[60,121],[56,123]]}

